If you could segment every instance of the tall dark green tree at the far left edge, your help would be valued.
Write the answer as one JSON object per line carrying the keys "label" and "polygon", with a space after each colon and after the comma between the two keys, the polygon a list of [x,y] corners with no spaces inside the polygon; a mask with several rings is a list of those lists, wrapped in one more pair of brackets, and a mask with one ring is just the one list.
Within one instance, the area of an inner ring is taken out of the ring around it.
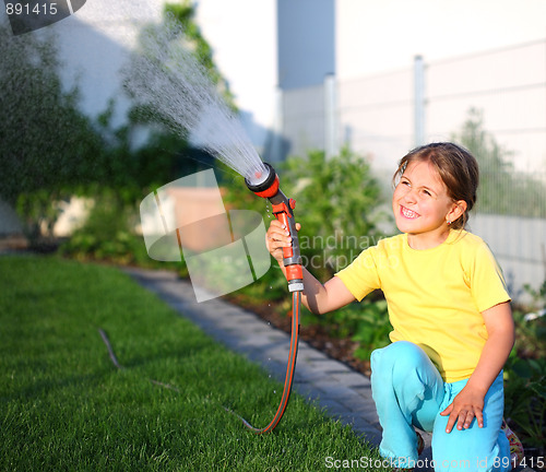
{"label": "tall dark green tree at the far left edge", "polygon": [[76,108],[78,91],[63,91],[56,37],[12,36],[0,27],[0,197],[61,188],[98,172],[102,143]]}

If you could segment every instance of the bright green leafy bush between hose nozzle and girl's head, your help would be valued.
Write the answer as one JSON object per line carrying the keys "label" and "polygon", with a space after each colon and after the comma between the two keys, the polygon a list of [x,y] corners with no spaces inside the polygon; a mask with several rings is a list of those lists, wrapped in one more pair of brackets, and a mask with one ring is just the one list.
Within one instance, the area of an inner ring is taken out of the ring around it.
{"label": "bright green leafy bush between hose nozzle and girl's head", "polygon": [[319,280],[330,279],[384,237],[378,223],[390,216],[380,211],[381,187],[365,157],[342,149],[327,160],[314,151],[289,158],[281,170],[285,193],[297,201],[304,262]]}

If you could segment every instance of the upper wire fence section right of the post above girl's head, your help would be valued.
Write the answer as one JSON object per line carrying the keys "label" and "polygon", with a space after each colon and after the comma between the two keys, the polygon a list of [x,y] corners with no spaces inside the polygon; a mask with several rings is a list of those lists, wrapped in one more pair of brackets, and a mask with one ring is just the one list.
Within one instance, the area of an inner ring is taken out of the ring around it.
{"label": "upper wire fence section right of the post above girl's head", "polygon": [[546,217],[546,40],[428,64],[428,140],[460,135],[470,109],[509,164],[478,156],[482,212]]}

